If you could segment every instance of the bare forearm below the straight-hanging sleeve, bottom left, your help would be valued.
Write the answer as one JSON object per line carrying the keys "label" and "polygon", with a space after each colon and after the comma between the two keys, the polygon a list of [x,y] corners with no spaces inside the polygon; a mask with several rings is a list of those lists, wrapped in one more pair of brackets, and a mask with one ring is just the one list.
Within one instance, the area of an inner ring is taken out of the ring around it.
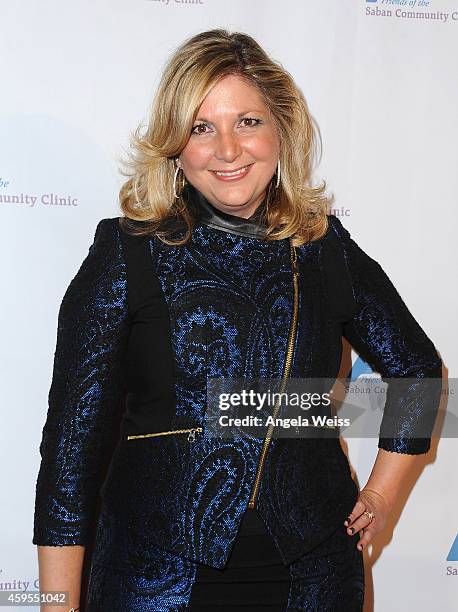
{"label": "bare forearm below the straight-hanging sleeve, bottom left", "polygon": [[40,612],[68,612],[80,605],[84,546],[38,546],[40,591],[68,591],[64,606],[44,605]]}

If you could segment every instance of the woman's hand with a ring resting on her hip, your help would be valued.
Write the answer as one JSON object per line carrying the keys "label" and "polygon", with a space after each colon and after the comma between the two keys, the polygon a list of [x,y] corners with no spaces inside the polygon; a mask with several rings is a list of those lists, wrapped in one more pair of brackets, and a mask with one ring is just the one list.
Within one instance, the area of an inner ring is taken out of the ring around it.
{"label": "woman's hand with a ring resting on her hip", "polygon": [[[371,519],[364,512],[372,512],[374,517]],[[382,494],[373,489],[361,489],[353,510],[344,522],[350,536],[361,530],[363,535],[358,542],[358,550],[363,550],[374,535],[382,531],[389,512],[388,501]]]}

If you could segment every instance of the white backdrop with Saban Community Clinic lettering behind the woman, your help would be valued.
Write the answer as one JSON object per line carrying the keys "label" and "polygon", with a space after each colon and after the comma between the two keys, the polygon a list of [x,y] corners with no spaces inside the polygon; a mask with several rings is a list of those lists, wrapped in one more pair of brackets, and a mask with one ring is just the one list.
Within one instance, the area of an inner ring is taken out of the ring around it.
{"label": "white backdrop with Saban Community Clinic lettering behind the woman", "polygon": [[[0,590],[38,587],[34,490],[60,300],[97,222],[120,215],[118,158],[164,62],[213,27],[251,34],[293,74],[334,214],[458,375],[458,0],[3,1]],[[377,440],[347,448],[363,486]],[[455,466],[456,440],[435,440],[365,553],[367,610],[456,609]]]}

